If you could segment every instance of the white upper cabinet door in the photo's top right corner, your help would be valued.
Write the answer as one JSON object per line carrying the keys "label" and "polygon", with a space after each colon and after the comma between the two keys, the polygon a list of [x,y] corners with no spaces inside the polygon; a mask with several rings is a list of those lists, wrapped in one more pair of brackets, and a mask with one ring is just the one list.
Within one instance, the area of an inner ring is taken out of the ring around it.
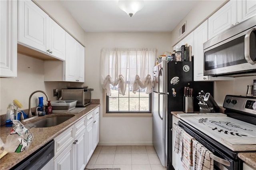
{"label": "white upper cabinet door in the photo's top right corner", "polygon": [[238,0],[237,1],[237,21],[238,22],[242,22],[254,15],[256,15],[255,0]]}

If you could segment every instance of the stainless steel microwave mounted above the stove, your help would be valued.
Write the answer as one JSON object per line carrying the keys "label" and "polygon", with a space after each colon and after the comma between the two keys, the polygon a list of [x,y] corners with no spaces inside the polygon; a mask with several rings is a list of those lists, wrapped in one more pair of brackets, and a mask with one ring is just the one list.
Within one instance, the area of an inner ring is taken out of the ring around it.
{"label": "stainless steel microwave mounted above the stove", "polygon": [[204,75],[256,75],[256,16],[204,43]]}

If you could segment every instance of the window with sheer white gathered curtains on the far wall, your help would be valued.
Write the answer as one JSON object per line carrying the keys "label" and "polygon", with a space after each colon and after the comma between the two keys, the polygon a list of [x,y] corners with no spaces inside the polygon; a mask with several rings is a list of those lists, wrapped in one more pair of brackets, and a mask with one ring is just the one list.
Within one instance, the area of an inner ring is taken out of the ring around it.
{"label": "window with sheer white gathered curtains on the far wall", "polygon": [[101,85],[106,90],[106,113],[151,113],[156,49],[103,48]]}

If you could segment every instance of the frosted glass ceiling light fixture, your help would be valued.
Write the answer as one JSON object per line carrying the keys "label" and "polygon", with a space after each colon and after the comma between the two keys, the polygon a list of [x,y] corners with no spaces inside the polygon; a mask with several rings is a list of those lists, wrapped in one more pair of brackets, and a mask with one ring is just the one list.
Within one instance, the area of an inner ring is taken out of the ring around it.
{"label": "frosted glass ceiling light fixture", "polygon": [[130,17],[141,10],[144,6],[143,0],[118,0],[118,6],[126,12]]}

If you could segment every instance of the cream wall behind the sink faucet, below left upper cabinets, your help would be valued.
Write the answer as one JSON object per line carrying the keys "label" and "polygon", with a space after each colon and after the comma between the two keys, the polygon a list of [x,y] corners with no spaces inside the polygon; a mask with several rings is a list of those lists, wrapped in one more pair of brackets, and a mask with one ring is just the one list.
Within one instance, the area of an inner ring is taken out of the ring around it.
{"label": "cream wall behind the sink faucet, below left upper cabinets", "polygon": [[[65,88],[69,83],[65,82],[44,82],[44,61],[18,53],[18,75],[16,78],[0,78],[0,114],[6,114],[6,108],[10,102],[17,99],[23,109],[28,109],[30,94],[36,90],[45,91],[51,101],[57,100],[53,97],[53,89]],[[38,105],[38,97],[46,97],[42,93],[32,96],[31,106]]]}

